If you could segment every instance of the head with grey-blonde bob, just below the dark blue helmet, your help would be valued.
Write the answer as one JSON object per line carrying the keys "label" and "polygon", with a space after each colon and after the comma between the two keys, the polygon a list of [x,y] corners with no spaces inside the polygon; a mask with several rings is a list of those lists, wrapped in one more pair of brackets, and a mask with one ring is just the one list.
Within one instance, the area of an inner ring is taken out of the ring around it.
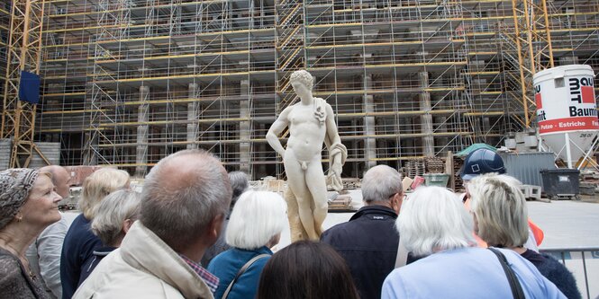
{"label": "head with grey-blonde bob, just below the dark blue helmet", "polygon": [[480,175],[468,189],[475,233],[489,246],[521,247],[528,239],[528,211],[520,181],[505,174]]}

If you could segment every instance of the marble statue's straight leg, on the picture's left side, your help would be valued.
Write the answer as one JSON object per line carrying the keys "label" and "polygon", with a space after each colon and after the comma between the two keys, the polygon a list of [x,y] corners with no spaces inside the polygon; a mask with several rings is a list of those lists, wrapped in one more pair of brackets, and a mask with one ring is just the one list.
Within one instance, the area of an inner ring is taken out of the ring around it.
{"label": "marble statue's straight leg, on the picture's left side", "polygon": [[305,183],[304,170],[302,170],[300,162],[295,159],[293,151],[289,149],[286,150],[285,161],[283,163],[285,164],[287,185],[297,200],[298,214],[304,226],[305,233],[308,234],[309,239],[318,240],[319,236],[314,230],[313,213],[310,208],[312,197]]}

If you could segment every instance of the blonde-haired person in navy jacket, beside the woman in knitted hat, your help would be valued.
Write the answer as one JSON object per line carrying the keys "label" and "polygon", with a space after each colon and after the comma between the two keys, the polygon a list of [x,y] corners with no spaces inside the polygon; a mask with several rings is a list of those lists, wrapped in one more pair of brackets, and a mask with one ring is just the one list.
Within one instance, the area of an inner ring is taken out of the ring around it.
{"label": "blonde-haired person in navy jacket, beside the woman in knitted hat", "polygon": [[62,297],[70,299],[81,285],[83,265],[94,259],[94,251],[102,246],[102,241],[90,229],[95,209],[102,199],[117,189],[129,188],[131,177],[127,171],[102,168],[94,171],[83,182],[83,190],[78,205],[81,215],[73,221],[60,255],[60,281]]}

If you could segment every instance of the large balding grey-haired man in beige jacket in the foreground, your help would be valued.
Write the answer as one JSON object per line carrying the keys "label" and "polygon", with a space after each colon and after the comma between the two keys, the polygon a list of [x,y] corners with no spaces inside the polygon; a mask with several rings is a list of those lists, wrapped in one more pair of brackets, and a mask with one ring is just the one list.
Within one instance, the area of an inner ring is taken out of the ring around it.
{"label": "large balding grey-haired man in beige jacket in the foreground", "polygon": [[218,278],[199,262],[218,239],[230,203],[227,171],[212,154],[168,155],[146,177],[140,219],[74,298],[212,299]]}

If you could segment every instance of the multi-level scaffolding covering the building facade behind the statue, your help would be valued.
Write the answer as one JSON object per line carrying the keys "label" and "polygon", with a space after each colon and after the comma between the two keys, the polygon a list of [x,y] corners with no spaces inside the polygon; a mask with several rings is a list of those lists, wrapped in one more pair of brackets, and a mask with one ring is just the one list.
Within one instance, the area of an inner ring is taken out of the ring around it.
{"label": "multi-level scaffolding covering the building facade behind the statue", "polygon": [[592,0],[548,1],[545,27],[520,31],[512,0],[46,2],[37,139],[60,142],[62,164],[137,176],[200,147],[253,179],[283,177],[264,136],[297,101],[297,69],[336,112],[344,176],[360,177],[534,125],[524,32],[538,33],[520,45],[536,65],[599,68]]}

